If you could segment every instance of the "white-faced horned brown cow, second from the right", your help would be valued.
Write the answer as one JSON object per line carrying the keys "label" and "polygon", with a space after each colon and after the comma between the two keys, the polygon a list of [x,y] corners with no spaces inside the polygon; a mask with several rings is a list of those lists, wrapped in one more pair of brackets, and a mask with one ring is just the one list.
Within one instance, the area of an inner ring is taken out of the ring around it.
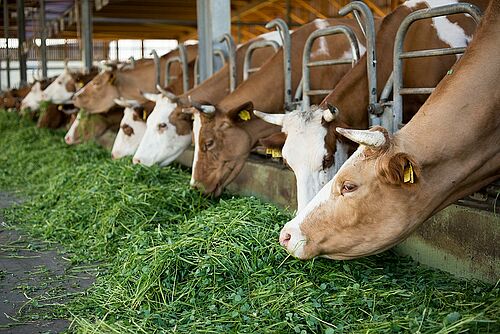
{"label": "white-faced horned brown cow, second from the right", "polygon": [[[447,1],[453,3],[453,0]],[[402,20],[412,11],[444,5],[438,1],[407,1],[387,15],[376,35],[377,86],[381,93],[393,65],[396,32]],[[453,24],[454,22],[455,24]],[[405,49],[466,46],[475,29],[472,19],[461,16],[439,17],[418,21],[405,39]],[[429,57],[408,60],[404,63],[404,82],[408,87],[434,87],[455,63],[456,56]],[[340,136],[335,128],[368,127],[368,77],[366,57],[350,71],[334,91],[310,111],[294,111],[282,115],[256,112],[262,119],[282,127],[280,137],[264,138],[267,146],[282,148],[282,155],[297,180],[297,208],[301,210],[332,179],[342,162],[347,160],[357,145]],[[409,120],[425,102],[426,95],[405,98],[405,120]]]}

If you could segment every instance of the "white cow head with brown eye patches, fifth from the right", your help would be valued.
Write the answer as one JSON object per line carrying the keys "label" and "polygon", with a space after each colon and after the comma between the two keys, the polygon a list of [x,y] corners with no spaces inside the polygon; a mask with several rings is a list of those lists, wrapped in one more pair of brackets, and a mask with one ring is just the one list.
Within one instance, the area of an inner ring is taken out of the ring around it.
{"label": "white cow head with brown eye patches, fifth from the right", "polygon": [[147,114],[143,106],[135,100],[115,99],[115,103],[124,107],[120,130],[116,135],[111,157],[120,159],[134,155],[146,132]]}

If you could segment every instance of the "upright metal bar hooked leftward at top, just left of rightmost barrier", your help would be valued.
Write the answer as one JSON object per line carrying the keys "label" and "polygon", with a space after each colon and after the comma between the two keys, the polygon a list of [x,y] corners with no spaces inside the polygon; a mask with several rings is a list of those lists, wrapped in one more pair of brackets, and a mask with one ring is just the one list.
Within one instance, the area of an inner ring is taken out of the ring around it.
{"label": "upright metal bar hooked leftward at top, just left of rightmost barrier", "polygon": [[[361,27],[366,36],[366,69],[368,73],[368,110],[377,103],[377,55],[375,51],[375,21],[370,8],[361,1],[353,1],[339,10],[339,15],[359,12],[365,25]],[[368,112],[370,125],[375,125],[375,115]]]}

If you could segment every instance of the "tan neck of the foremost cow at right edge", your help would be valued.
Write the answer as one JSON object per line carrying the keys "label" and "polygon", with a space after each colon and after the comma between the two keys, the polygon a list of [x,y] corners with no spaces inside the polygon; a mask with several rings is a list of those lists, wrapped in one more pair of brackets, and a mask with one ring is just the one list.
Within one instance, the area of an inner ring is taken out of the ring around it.
{"label": "tan neck of the foremost cow at right edge", "polygon": [[429,216],[500,176],[500,4],[491,7],[452,74],[395,136],[422,167],[420,199],[440,203]]}

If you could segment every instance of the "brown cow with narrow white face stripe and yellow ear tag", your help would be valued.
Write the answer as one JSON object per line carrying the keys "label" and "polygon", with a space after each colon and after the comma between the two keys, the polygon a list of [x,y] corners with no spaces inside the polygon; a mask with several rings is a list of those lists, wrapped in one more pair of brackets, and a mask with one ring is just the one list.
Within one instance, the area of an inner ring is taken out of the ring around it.
{"label": "brown cow with narrow white face stripe and yellow ear tag", "polygon": [[[349,26],[356,36],[362,36],[358,24],[350,19],[318,19],[291,34],[294,50],[292,89],[297,88],[302,76],[302,53],[308,36],[318,28],[334,25]],[[360,45],[364,51],[364,45]],[[315,42],[312,60],[345,58],[349,50],[344,36],[323,38]],[[252,110],[255,108],[269,113],[283,110],[282,57],[280,50],[259,72],[216,104],[212,112],[202,112],[200,109],[194,113],[192,186],[205,194],[219,196],[224,187],[238,175],[258,140],[279,131],[277,126],[255,117]],[[333,87],[350,68],[350,65],[341,65],[311,71],[312,87]]]}

